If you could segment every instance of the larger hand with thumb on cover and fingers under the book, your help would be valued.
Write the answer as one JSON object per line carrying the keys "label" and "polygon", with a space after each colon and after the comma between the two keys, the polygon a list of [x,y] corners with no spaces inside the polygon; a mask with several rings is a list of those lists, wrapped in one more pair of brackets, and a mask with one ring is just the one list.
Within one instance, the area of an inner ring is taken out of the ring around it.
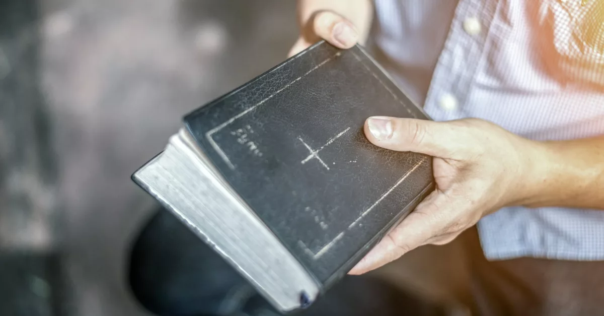
{"label": "larger hand with thumb on cover and fingers under the book", "polygon": [[521,203],[539,179],[533,173],[541,144],[484,120],[370,117],[364,130],[377,146],[432,156],[436,189],[350,274],[378,268],[422,245],[451,242],[481,217]]}

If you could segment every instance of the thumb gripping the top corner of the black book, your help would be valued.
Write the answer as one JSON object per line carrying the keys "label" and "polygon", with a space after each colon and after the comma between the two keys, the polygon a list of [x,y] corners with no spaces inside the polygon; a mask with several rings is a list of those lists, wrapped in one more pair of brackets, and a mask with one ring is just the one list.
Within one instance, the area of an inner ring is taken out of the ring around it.
{"label": "thumb gripping the top corner of the black book", "polygon": [[[312,33],[339,48],[353,47],[359,40],[358,31],[351,22],[331,11],[321,11],[309,21]],[[309,38],[307,38],[309,40]]]}

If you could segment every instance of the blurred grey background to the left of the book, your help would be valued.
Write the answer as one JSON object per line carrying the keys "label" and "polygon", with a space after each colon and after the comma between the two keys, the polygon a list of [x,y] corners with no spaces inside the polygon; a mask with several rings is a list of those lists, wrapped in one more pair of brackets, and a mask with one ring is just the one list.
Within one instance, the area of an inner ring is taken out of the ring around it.
{"label": "blurred grey background to the left of the book", "polygon": [[[297,35],[295,1],[0,0],[0,315],[150,315],[125,274],[155,201],[130,174]],[[376,273],[445,299],[455,263],[429,252]]]}

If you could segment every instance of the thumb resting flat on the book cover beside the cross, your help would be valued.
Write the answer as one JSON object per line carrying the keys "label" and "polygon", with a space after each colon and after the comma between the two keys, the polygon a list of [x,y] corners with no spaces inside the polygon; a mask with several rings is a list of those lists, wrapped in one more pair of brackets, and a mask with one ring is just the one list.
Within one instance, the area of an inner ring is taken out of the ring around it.
{"label": "thumb resting flat on the book cover beside the cross", "polygon": [[449,122],[373,116],[365,121],[365,136],[374,145],[396,151],[456,159],[461,150],[474,150],[466,131]]}

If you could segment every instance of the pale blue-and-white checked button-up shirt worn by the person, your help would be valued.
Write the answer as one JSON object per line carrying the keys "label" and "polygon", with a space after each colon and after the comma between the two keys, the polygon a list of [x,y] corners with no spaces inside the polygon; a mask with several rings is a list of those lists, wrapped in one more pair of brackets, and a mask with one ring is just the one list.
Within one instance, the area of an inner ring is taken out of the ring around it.
{"label": "pale blue-and-white checked button-up shirt worn by the person", "polygon": [[[528,139],[604,134],[604,1],[376,0],[367,47],[434,120]],[[510,207],[478,222],[489,260],[604,260],[604,211]]]}

